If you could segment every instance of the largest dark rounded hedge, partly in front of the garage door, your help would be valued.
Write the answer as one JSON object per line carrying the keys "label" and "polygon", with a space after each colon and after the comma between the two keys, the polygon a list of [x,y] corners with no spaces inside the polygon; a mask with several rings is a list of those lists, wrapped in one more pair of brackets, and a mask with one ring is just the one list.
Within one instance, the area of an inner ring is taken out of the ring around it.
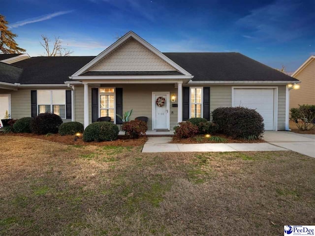
{"label": "largest dark rounded hedge, partly in front of the garage door", "polygon": [[264,133],[262,116],[245,107],[219,107],[212,112],[213,122],[222,133],[241,139],[259,139]]}

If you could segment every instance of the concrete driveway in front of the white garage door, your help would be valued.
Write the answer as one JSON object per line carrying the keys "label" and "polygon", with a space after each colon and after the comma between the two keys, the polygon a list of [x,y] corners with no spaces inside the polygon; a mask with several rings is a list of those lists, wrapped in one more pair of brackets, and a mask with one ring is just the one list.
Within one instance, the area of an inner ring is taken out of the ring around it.
{"label": "concrete driveway in front of the white garage door", "polygon": [[315,135],[289,131],[266,131],[263,139],[278,147],[315,157]]}

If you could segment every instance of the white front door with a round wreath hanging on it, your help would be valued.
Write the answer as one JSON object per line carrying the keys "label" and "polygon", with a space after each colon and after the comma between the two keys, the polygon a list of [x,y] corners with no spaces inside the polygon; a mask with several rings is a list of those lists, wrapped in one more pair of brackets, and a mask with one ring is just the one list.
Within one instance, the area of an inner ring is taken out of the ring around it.
{"label": "white front door with a round wreath hanging on it", "polygon": [[169,92],[152,93],[153,129],[169,129]]}

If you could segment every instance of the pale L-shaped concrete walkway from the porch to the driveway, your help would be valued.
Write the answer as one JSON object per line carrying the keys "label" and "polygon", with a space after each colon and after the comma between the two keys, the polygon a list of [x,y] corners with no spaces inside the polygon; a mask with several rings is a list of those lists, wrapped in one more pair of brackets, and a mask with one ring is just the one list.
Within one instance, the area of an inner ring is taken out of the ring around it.
{"label": "pale L-shaped concrete walkway from the porch to the driveway", "polygon": [[171,137],[150,137],[142,152],[285,151],[268,143],[258,144],[170,144]]}

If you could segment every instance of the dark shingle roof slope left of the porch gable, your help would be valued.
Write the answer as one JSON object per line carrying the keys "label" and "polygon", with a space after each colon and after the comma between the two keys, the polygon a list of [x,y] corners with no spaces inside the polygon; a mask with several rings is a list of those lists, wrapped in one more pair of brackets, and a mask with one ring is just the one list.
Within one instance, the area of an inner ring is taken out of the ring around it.
{"label": "dark shingle roof slope left of the porch gable", "polygon": [[13,63],[23,68],[20,84],[64,84],[95,57],[34,57]]}

